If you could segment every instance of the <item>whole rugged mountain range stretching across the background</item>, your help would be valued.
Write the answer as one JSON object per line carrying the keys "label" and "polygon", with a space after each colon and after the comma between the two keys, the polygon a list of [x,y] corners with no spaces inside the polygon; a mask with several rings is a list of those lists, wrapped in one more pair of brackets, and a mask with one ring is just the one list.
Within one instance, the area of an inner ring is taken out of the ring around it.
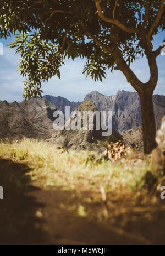
{"label": "whole rugged mountain range stretching across the background", "polygon": [[[140,99],[136,92],[122,90],[118,91],[116,95],[106,96],[92,91],[85,96],[84,102],[87,100],[92,100],[100,111],[113,111],[113,130],[122,132],[136,129],[141,125]],[[0,137],[51,138],[55,134],[52,129],[53,112],[56,109],[64,112],[65,106],[70,106],[72,112],[80,105],[82,102],[70,102],[61,96],[51,95],[45,95],[43,98],[31,98],[20,103],[0,101]],[[161,119],[165,115],[165,96],[154,95],[153,105],[158,129]]]}

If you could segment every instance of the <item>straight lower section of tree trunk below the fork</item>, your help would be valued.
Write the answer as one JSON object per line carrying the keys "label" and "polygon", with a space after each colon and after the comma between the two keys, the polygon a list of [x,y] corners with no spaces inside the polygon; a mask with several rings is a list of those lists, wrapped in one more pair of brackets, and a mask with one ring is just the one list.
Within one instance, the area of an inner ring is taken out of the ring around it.
{"label": "straight lower section of tree trunk below the fork", "polygon": [[141,119],[144,142],[144,153],[150,154],[156,148],[155,142],[156,126],[153,111],[153,96],[151,92],[140,92],[141,101]]}

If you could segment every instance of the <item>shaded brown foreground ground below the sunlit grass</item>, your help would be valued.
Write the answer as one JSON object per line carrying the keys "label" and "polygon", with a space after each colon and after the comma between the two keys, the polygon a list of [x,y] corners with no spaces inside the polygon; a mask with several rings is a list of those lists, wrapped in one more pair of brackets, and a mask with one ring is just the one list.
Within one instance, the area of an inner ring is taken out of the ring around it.
{"label": "shaded brown foreground ground below the sunlit grass", "polygon": [[0,175],[0,244],[165,244],[165,200],[155,195],[120,191],[103,201],[99,191],[36,187],[25,164],[0,166],[19,175],[19,184]]}

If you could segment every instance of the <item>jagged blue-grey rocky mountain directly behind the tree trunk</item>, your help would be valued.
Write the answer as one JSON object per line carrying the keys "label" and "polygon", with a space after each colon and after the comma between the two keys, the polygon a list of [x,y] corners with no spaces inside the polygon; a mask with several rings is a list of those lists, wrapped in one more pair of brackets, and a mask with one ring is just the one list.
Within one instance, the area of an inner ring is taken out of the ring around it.
{"label": "jagged blue-grey rocky mountain directly behind the tree trunk", "polygon": [[[105,96],[97,91],[90,92],[84,101],[91,99],[98,110],[113,111],[113,129],[119,131],[129,130],[141,125],[140,98],[137,92],[118,91],[116,95]],[[161,124],[165,115],[165,96],[154,95],[153,105],[155,110],[156,128]]]}

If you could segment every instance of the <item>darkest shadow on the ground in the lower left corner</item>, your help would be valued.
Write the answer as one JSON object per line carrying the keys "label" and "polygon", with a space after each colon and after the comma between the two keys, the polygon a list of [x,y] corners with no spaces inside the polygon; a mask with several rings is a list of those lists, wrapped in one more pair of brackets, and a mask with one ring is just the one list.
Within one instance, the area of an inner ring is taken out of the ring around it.
{"label": "darkest shadow on the ground in the lower left corner", "polygon": [[0,244],[41,244],[46,232],[41,229],[41,218],[36,216],[43,207],[29,192],[37,187],[30,186],[30,168],[12,160],[0,159],[0,185],[3,200],[0,200]]}

